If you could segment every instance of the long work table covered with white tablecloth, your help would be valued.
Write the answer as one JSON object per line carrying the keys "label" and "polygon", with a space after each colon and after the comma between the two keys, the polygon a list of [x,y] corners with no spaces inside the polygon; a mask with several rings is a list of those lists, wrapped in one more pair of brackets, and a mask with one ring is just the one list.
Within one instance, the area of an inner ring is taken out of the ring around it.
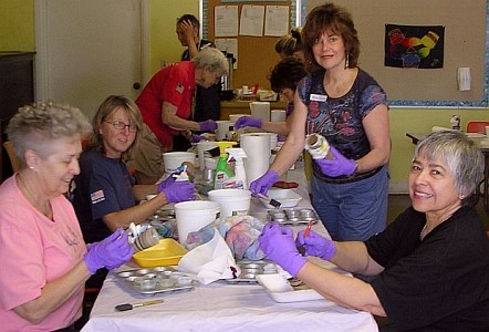
{"label": "long work table covered with white tablecloth", "polygon": [[[289,170],[287,179],[301,179],[295,189],[302,196],[299,206],[311,208],[303,170]],[[252,199],[250,215],[264,220],[267,209]],[[303,227],[294,226],[294,232]],[[313,226],[313,230],[327,235],[321,221]],[[339,270],[332,263],[310,259]],[[258,283],[233,284],[220,280],[197,284],[191,291],[144,295],[121,282],[116,272],[112,271],[105,280],[83,332],[378,331],[375,320],[367,312],[346,309],[325,299],[279,303]],[[115,310],[117,304],[156,299],[163,299],[164,303],[124,312]]]}

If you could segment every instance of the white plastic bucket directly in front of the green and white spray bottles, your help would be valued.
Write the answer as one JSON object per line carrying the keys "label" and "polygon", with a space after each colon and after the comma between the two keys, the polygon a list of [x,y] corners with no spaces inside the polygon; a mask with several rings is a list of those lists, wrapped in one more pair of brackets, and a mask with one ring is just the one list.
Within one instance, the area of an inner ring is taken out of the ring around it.
{"label": "white plastic bucket directly in front of the green and white spray bottles", "polygon": [[250,211],[251,191],[243,189],[216,189],[208,194],[211,201],[220,204],[221,218],[247,216]]}

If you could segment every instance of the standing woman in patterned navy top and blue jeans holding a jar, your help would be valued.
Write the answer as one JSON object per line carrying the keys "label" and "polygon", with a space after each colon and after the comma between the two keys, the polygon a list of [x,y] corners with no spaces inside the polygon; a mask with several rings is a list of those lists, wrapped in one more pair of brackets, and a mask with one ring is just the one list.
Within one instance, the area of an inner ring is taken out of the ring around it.
{"label": "standing woman in patterned navy top and blue jeans holding a jar", "polygon": [[334,240],[365,240],[385,229],[387,219],[386,94],[357,68],[360,41],[345,9],[314,8],[302,38],[310,74],[298,85],[290,133],[250,189],[266,194],[303,152],[305,135],[321,134],[334,158],[313,163],[313,207]]}

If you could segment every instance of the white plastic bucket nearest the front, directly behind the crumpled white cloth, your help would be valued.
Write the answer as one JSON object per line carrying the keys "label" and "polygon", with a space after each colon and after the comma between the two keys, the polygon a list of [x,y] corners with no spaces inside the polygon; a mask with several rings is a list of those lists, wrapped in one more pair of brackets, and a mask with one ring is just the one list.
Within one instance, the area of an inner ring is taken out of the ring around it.
{"label": "white plastic bucket nearest the front, directly behind the crumpled white cloth", "polygon": [[178,241],[184,246],[189,232],[198,231],[219,219],[220,205],[215,201],[181,201],[177,203],[174,208],[177,219]]}

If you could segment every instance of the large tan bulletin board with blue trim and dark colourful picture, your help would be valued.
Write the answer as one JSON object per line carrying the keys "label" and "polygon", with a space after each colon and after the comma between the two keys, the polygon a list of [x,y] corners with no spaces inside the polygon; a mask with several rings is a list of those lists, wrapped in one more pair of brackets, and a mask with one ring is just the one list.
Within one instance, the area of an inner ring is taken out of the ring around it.
{"label": "large tan bulletin board with blue trim and dark colourful picture", "polygon": [[[306,11],[324,4],[308,0]],[[393,105],[488,106],[487,0],[334,0],[353,15],[361,42],[358,66],[384,87]],[[444,25],[443,69],[384,66],[385,24]],[[458,91],[457,70],[468,66],[471,90]]]}

